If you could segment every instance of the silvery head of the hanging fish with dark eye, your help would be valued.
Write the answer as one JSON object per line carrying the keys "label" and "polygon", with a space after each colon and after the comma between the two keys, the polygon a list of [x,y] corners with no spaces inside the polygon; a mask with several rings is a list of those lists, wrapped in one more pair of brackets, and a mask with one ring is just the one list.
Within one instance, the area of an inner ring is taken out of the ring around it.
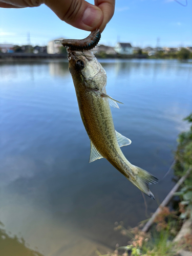
{"label": "silvery head of the hanging fish with dark eye", "polygon": [[74,84],[102,93],[106,85],[106,72],[93,52],[68,49],[68,59]]}

